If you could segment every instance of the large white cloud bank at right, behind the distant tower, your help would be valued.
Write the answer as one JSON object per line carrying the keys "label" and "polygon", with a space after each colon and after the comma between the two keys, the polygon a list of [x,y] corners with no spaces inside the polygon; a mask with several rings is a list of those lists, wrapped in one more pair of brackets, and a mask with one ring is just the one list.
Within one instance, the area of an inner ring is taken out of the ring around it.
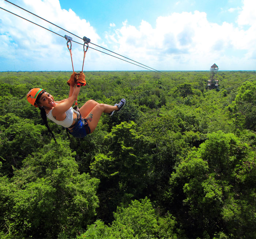
{"label": "large white cloud bank at right, behind the distant tower", "polygon": [[[244,1],[240,16],[249,14],[249,5]],[[118,53],[160,70],[208,70],[214,62],[224,69],[254,70],[256,24],[249,16],[252,27],[244,30],[211,23],[205,12],[173,13],[159,16],[155,28],[143,20],[138,28],[126,21],[111,37]]]}

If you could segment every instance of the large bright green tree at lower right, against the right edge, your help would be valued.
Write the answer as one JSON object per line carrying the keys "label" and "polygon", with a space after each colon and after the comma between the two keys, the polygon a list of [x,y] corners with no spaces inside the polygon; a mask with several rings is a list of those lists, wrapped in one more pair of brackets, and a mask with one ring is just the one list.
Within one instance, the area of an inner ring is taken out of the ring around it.
{"label": "large bright green tree at lower right, against the right edge", "polygon": [[174,216],[182,217],[188,237],[211,238],[223,232],[253,238],[254,178],[255,152],[247,144],[233,134],[209,134],[170,177],[168,198],[175,210],[180,208]]}

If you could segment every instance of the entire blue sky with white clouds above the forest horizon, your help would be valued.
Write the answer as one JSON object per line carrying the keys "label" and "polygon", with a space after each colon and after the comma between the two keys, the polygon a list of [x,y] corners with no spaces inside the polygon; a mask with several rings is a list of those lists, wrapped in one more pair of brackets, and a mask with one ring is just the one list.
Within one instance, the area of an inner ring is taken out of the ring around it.
{"label": "entire blue sky with white clouds above the forest horizon", "polygon": [[[209,70],[213,63],[220,70],[255,70],[255,0],[12,3],[157,70]],[[0,0],[0,6],[60,35],[67,34],[4,0]],[[0,71],[72,70],[65,39],[1,9],[0,37]],[[73,43],[72,53],[78,71],[82,65],[82,46]],[[89,49],[84,70],[144,69]]]}

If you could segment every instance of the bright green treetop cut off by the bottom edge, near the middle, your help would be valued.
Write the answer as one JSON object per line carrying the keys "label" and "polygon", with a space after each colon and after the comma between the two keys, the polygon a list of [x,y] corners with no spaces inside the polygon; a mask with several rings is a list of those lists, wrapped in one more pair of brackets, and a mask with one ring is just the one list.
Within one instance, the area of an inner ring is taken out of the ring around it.
{"label": "bright green treetop cut off by the bottom edge, near the middle", "polygon": [[174,232],[175,225],[176,220],[172,215],[167,213],[165,217],[160,217],[155,212],[150,200],[145,198],[141,202],[132,201],[128,207],[118,207],[114,212],[114,221],[111,225],[106,226],[98,220],[77,238],[177,238]]}

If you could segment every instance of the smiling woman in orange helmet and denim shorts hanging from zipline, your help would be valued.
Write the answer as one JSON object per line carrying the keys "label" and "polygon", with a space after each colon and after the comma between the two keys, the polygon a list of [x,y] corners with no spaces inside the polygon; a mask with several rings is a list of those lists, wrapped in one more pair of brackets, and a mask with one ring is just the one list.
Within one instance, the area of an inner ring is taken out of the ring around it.
{"label": "smiling woman in orange helmet and denim shorts hanging from zipline", "polygon": [[74,137],[84,138],[95,130],[102,113],[108,113],[112,116],[115,111],[120,111],[125,105],[125,99],[121,99],[115,105],[100,104],[94,100],[88,100],[79,111],[76,111],[72,105],[78,97],[80,86],[86,85],[84,73],[73,72],[67,83],[70,86],[69,97],[64,100],[54,101],[53,96],[41,88],[33,88],[27,93],[27,101],[40,109],[41,117],[48,131],[50,129],[46,117],[67,128]]}

